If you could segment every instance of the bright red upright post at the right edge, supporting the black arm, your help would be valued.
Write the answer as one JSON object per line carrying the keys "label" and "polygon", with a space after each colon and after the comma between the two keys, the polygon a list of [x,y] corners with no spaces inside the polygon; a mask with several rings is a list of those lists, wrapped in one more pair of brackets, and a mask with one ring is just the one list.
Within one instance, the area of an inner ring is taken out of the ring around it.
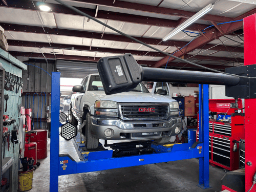
{"label": "bright red upright post at the right edge, supporting the black arm", "polygon": [[[244,18],[244,65],[256,63],[256,14]],[[254,68],[255,69],[255,68]],[[255,69],[256,70],[256,69]],[[239,90],[237,90],[239,91]],[[253,88],[255,92],[255,87]],[[245,99],[245,191],[252,186],[256,172],[256,99]],[[256,185],[250,191],[255,191]]]}

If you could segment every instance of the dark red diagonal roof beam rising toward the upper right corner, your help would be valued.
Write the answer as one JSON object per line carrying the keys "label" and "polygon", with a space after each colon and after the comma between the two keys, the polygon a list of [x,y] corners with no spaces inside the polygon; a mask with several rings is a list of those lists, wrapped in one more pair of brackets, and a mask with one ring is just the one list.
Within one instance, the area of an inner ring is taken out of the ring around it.
{"label": "dark red diagonal roof beam rising toward the upper right corner", "polygon": [[[256,13],[256,9],[252,9],[252,10],[234,18],[233,20],[243,19],[244,17],[247,17],[253,13]],[[212,40],[215,40],[216,38],[219,38],[223,35],[226,35],[228,33],[231,33],[233,31],[236,31],[236,30],[242,29],[242,28],[243,28],[243,21],[223,24],[223,25],[221,25],[221,29],[222,29],[223,33],[221,33],[220,31],[218,31],[216,29],[211,29],[210,31],[204,33],[204,35],[207,38],[205,38],[204,36],[200,36],[200,37],[196,38],[189,45],[187,45],[184,49],[182,49],[184,51],[184,53],[176,52],[176,53],[174,53],[174,55],[177,57],[181,57],[195,49],[201,48],[203,45],[207,44],[208,42],[210,42]],[[157,61],[156,64],[154,65],[154,67],[158,68],[158,67],[165,65],[168,58],[169,58],[169,56],[166,56],[163,59],[161,59],[160,61]],[[169,61],[172,61],[172,60],[175,60],[175,58],[171,57],[169,59]]]}

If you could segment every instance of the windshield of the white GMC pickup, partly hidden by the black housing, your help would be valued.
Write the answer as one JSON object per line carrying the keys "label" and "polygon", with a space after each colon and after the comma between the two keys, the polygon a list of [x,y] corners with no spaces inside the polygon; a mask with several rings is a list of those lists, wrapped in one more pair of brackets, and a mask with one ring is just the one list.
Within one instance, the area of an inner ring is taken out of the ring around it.
{"label": "windshield of the white GMC pickup, partly hidden by the black housing", "polygon": [[[88,91],[104,91],[99,75],[91,76]],[[138,86],[134,88],[132,91],[149,93],[142,83],[139,83]]]}

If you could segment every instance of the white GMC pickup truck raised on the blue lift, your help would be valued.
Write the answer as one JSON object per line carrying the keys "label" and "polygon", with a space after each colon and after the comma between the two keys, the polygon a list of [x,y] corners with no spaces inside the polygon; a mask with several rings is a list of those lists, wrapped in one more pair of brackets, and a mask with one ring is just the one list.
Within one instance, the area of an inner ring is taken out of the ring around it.
{"label": "white GMC pickup truck raised on the blue lift", "polygon": [[80,122],[88,149],[97,148],[99,139],[164,143],[182,131],[178,102],[164,97],[164,89],[151,94],[139,83],[130,92],[106,95],[99,74],[91,74],[73,92],[69,119]]}

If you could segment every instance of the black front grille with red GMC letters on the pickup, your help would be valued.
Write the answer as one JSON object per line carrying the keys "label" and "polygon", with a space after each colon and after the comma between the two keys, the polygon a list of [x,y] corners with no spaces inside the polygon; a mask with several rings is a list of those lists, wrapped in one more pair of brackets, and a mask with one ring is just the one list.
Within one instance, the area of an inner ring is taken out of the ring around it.
{"label": "black front grille with red GMC letters on the pickup", "polygon": [[[128,119],[164,119],[168,115],[169,104],[120,104],[122,116]],[[154,112],[148,110],[154,108]],[[139,110],[140,109],[140,110]],[[142,112],[140,112],[142,111]]]}

